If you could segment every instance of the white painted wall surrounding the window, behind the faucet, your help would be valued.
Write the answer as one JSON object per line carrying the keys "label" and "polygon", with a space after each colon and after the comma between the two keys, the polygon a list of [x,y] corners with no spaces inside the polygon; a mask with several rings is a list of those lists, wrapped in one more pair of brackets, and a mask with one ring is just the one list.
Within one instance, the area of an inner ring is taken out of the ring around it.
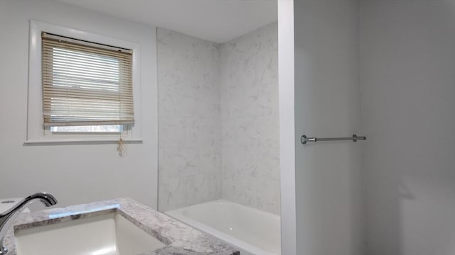
{"label": "white painted wall surrounding the window, behind the faucet", "polygon": [[[26,140],[29,19],[141,45],[143,144],[23,146]],[[59,205],[130,197],[157,204],[155,28],[53,1],[0,1],[0,198],[48,191]]]}

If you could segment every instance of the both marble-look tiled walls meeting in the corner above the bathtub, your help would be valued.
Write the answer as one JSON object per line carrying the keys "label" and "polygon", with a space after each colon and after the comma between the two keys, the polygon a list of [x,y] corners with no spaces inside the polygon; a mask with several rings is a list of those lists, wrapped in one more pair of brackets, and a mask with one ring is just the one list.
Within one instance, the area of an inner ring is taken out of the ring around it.
{"label": "both marble-look tiled walls meeting in the corner above the bathtub", "polygon": [[158,28],[159,210],[279,214],[277,23],[215,44]]}

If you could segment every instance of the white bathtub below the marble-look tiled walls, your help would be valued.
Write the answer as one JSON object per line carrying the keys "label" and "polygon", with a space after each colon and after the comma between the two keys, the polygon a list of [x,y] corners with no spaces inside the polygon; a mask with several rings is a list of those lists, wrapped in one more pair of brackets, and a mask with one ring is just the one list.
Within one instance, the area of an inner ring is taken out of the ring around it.
{"label": "white bathtub below the marble-look tiled walls", "polygon": [[281,254],[279,215],[223,199],[165,213],[236,246],[241,255]]}

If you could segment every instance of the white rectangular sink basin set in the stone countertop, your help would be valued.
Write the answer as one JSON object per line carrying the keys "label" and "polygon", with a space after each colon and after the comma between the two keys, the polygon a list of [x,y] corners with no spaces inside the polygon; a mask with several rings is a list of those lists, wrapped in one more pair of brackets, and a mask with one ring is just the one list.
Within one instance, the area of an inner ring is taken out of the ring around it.
{"label": "white rectangular sink basin set in the stone countertop", "polygon": [[116,211],[14,234],[17,255],[133,255],[166,246]]}

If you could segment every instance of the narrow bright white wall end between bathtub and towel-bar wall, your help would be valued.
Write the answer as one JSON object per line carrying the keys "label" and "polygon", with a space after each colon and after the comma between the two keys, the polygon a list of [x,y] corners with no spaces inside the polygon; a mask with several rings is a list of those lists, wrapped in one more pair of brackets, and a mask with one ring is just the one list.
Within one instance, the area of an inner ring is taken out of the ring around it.
{"label": "narrow bright white wall end between bathtub and towel-bar wall", "polygon": [[278,1],[279,170],[282,254],[297,254],[294,0]]}

